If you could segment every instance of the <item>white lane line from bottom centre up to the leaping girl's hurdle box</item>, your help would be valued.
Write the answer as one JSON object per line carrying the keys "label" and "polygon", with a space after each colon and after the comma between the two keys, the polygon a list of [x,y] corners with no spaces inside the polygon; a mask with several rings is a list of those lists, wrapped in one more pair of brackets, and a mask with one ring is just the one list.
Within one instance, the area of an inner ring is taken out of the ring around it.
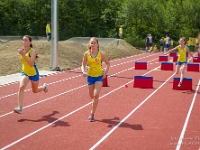
{"label": "white lane line from bottom centre up to the leaping girl's hurdle box", "polygon": [[163,84],[161,84],[154,92],[152,92],[144,101],[142,101],[136,108],[134,108],[125,118],[123,118],[112,130],[110,130],[103,138],[94,144],[90,150],[95,149],[101,142],[103,142],[109,135],[111,135],[126,119],[128,119],[137,109],[139,109],[151,96],[153,96],[163,85],[165,85],[173,76],[172,74]]}

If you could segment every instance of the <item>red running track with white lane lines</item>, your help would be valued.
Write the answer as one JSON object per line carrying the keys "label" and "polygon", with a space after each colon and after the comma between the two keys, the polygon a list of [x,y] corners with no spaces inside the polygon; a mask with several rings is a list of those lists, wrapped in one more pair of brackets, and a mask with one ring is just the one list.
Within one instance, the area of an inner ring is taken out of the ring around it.
{"label": "red running track with white lane lines", "polygon": [[[29,85],[21,115],[12,112],[18,83],[0,87],[0,148],[197,150],[200,74],[185,73],[193,79],[192,91],[173,90],[173,78],[180,74],[154,70],[159,55],[111,61],[95,122],[87,120],[91,103],[80,68],[41,78],[49,85],[46,94],[33,94]],[[148,70],[135,70],[135,61],[148,62]],[[153,76],[153,88],[133,88],[136,75]]]}

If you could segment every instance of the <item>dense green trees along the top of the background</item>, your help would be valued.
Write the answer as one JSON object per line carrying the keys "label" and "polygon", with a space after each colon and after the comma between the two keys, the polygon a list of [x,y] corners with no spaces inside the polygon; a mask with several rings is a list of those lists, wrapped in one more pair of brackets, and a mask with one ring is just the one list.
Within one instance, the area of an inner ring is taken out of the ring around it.
{"label": "dense green trees along the top of the background", "polygon": [[[199,0],[58,0],[59,40],[71,37],[118,38],[144,44],[151,33],[154,41],[168,34],[178,40],[200,31]],[[51,0],[0,0],[0,35],[45,36],[51,20]]]}

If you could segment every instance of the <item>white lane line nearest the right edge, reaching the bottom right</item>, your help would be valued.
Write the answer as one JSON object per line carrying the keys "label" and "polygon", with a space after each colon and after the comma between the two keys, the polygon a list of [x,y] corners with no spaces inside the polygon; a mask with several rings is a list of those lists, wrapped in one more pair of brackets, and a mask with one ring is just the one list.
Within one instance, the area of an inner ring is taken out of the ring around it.
{"label": "white lane line nearest the right edge, reaching the bottom right", "polygon": [[190,115],[191,115],[191,112],[192,112],[192,109],[193,109],[193,106],[194,106],[194,103],[195,103],[195,100],[196,100],[196,97],[197,97],[199,86],[200,86],[200,80],[199,80],[199,83],[198,83],[197,88],[195,90],[195,94],[194,94],[192,103],[190,105],[190,109],[188,111],[187,117],[185,119],[185,123],[184,123],[183,129],[182,129],[181,135],[179,137],[179,140],[178,140],[178,143],[177,143],[177,146],[176,146],[176,150],[180,150],[180,148],[181,148],[182,140],[184,138],[184,134],[185,134],[185,131],[186,131],[189,119],[190,119]]}

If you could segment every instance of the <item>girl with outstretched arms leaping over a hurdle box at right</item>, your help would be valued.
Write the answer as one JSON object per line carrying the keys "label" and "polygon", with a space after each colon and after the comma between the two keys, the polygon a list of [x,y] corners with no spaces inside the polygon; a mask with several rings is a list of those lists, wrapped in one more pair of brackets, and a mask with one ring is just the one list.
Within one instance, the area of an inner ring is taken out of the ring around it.
{"label": "girl with outstretched arms leaping over a hurdle box at right", "polygon": [[178,84],[178,87],[181,87],[182,81],[184,78],[185,67],[187,65],[187,52],[190,54],[191,57],[194,58],[194,56],[190,52],[189,48],[186,46],[187,41],[184,37],[180,38],[178,42],[179,42],[179,45],[169,50],[168,52],[166,52],[165,55],[170,53],[171,51],[178,50],[179,55],[178,55],[178,61],[176,63],[176,74],[178,74],[179,69],[180,69],[181,76],[180,76],[180,82]]}

